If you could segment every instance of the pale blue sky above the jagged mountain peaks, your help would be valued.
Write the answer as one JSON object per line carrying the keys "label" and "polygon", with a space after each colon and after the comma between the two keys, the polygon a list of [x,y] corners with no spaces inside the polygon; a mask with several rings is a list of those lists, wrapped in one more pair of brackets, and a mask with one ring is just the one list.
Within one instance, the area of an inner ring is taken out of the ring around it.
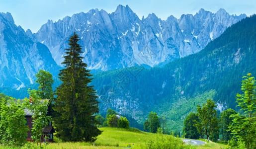
{"label": "pale blue sky above the jagged mountain peaks", "polygon": [[179,18],[181,14],[195,14],[200,8],[212,12],[224,8],[237,15],[256,13],[256,0],[0,0],[0,12],[10,12],[16,25],[34,33],[48,19],[58,21],[92,8],[111,13],[118,4],[128,4],[140,18],[154,12],[163,20],[170,15]]}

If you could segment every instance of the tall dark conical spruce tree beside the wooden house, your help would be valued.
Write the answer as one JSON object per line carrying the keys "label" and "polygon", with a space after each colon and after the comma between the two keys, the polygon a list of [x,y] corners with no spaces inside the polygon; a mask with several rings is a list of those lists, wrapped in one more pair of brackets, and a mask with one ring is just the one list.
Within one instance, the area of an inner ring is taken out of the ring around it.
{"label": "tall dark conical spruce tree beside the wooden house", "polygon": [[95,141],[101,131],[95,126],[95,113],[98,113],[96,92],[89,86],[91,74],[81,57],[82,48],[78,44],[79,36],[74,32],[65,49],[62,63],[65,69],[59,73],[62,84],[57,87],[54,110],[54,123],[59,137],[63,141]]}

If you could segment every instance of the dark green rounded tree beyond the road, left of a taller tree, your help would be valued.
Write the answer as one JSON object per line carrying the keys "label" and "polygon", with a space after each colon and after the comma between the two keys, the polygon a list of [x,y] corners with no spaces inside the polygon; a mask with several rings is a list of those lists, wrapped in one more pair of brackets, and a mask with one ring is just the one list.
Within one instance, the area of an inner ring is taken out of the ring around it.
{"label": "dark green rounded tree beyond the road, left of a taller tree", "polygon": [[195,113],[190,112],[184,120],[183,133],[185,138],[199,139],[200,133],[198,133],[197,128],[194,126],[195,121],[199,122],[198,116]]}

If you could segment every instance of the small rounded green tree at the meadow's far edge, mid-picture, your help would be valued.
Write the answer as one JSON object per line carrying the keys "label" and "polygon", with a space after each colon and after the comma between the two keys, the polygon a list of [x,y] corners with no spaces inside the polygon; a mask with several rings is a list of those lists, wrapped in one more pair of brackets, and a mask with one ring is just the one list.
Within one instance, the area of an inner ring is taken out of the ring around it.
{"label": "small rounded green tree at the meadow's far edge, mid-picture", "polygon": [[158,128],[160,128],[159,117],[156,112],[150,112],[147,121],[144,122],[144,130],[157,133]]}

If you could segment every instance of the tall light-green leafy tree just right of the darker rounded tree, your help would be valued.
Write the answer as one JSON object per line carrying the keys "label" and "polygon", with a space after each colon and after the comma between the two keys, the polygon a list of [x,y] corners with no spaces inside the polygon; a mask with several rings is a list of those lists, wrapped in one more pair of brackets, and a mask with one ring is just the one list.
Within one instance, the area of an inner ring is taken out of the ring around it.
{"label": "tall light-green leafy tree just right of the darker rounded tree", "polygon": [[217,118],[217,110],[215,110],[216,107],[215,102],[211,99],[208,99],[202,107],[197,105],[196,115],[199,121],[194,120],[194,126],[200,134],[206,135],[207,139],[209,139],[209,136],[213,138],[214,134],[219,133],[220,127]]}

